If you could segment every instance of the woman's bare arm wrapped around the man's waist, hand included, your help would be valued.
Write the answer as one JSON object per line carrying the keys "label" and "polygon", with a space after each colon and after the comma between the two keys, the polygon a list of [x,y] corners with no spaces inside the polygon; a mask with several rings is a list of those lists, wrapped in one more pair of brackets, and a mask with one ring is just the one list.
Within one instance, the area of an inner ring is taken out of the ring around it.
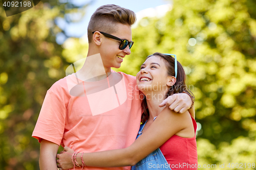
{"label": "woman's bare arm wrapped around the man's waist, hand included", "polygon": [[[138,161],[159,148],[174,134],[187,128],[189,124],[193,126],[188,112],[180,114],[168,108],[164,108],[154,123],[152,123],[130,147],[95,153],[84,153],[83,161],[87,166],[96,167],[135,165]],[[65,149],[67,150],[67,147]],[[59,160],[57,162],[60,163],[59,167],[62,169],[72,168],[72,154],[73,150],[68,150],[65,154],[58,154],[57,158],[59,158]],[[82,165],[80,157],[81,153],[77,155],[77,161]]]}

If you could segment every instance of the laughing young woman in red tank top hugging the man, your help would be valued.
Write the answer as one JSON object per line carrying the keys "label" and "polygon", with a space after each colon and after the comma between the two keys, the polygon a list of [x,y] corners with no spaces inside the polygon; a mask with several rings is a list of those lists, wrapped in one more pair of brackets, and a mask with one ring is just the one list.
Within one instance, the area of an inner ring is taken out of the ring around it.
{"label": "laughing young woman in red tank top hugging the man", "polygon": [[[176,56],[175,56],[176,57]],[[172,55],[154,53],[141,65],[137,85],[144,94],[142,125],[136,141],[128,148],[74,153],[65,147],[57,160],[60,170],[80,166],[119,167],[132,169],[197,169],[195,119],[186,111],[176,113],[159,104],[169,95],[186,92],[182,65]],[[160,114],[161,113],[161,114]]]}

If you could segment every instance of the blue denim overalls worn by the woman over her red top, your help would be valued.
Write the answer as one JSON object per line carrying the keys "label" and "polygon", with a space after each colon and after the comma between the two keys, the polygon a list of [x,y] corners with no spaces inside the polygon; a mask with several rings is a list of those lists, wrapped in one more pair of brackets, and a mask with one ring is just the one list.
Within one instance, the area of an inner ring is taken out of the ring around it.
{"label": "blue denim overalls worn by the woman over her red top", "polygon": [[[142,134],[142,130],[145,124],[140,125],[140,130],[138,132],[137,138]],[[150,155],[147,155],[147,157],[139,161],[136,165],[132,166],[131,170],[135,170],[135,169],[136,170],[146,170],[146,169],[172,170],[169,167],[168,162],[164,158],[159,148],[153,151]]]}

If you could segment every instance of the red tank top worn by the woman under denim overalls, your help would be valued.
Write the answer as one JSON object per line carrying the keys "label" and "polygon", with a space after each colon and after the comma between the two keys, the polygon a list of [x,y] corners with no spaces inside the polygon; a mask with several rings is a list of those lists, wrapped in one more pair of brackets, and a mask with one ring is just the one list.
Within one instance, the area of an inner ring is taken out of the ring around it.
{"label": "red tank top worn by the woman under denim overalls", "polygon": [[184,138],[173,135],[160,147],[161,152],[172,170],[197,169],[197,123],[192,116],[191,119],[195,130],[194,137]]}

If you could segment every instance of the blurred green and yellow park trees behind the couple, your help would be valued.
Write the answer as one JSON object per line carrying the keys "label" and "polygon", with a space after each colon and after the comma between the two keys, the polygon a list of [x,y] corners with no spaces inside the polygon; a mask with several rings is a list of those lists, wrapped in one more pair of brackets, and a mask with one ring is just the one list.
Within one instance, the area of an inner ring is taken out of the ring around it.
{"label": "blurred green and yellow park trees behind the couple", "polygon": [[[164,16],[138,20],[132,54],[117,70],[136,75],[146,56],[176,54],[196,96],[198,164],[255,169],[256,1],[170,3]],[[66,33],[55,19],[73,22],[87,7],[41,1],[11,17],[0,8],[0,169],[39,169],[40,145],[31,135],[45,94],[88,50],[84,38],[57,43]]]}

